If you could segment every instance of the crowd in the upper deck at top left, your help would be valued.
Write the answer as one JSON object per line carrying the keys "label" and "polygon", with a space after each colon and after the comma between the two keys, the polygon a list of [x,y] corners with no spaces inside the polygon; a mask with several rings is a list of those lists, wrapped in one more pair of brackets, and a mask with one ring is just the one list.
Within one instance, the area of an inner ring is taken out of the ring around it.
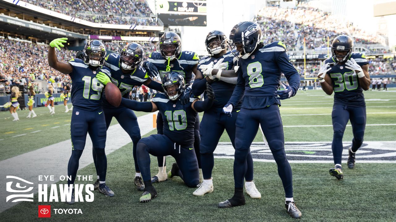
{"label": "crowd in the upper deck at top left", "polygon": [[135,24],[158,26],[150,15],[150,8],[140,0],[85,0],[62,1],[29,0],[30,4],[65,15],[106,24]]}

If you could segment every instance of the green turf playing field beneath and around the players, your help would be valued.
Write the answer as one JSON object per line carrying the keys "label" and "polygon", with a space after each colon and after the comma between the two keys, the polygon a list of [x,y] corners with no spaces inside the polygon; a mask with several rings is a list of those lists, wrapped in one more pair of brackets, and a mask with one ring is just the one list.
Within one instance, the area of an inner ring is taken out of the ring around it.
{"label": "green turf playing field beneath and around the players", "polygon": [[[365,92],[367,126],[365,141],[395,141],[396,90],[388,92]],[[282,102],[280,108],[284,123],[285,140],[331,141],[332,96],[322,90],[299,91],[297,95]],[[12,122],[10,113],[0,113],[0,124],[7,126],[0,131],[1,160],[40,149],[47,145],[69,139],[70,113],[61,113],[57,107],[55,116],[48,114],[46,107],[35,109],[40,115],[26,119],[26,111],[19,112],[19,122]],[[144,113],[138,113],[141,115]],[[315,114],[315,115],[314,115]],[[325,114],[325,115],[317,115]],[[151,120],[150,120],[151,121]],[[57,123],[58,122],[58,123]],[[113,121],[114,124],[116,121]],[[48,126],[42,126],[46,125]],[[370,124],[372,126],[370,126]],[[65,126],[64,126],[65,125]],[[59,126],[57,128],[51,128]],[[299,127],[292,127],[299,126]],[[27,129],[33,128],[33,129]],[[37,130],[41,132],[31,133]],[[12,133],[9,133],[12,132]],[[144,136],[155,133],[155,130]],[[21,135],[26,134],[26,135]],[[12,137],[20,135],[18,137]],[[142,137],[144,137],[142,136]],[[51,137],[51,141],[48,138]],[[40,138],[40,139],[39,139]],[[352,128],[346,128],[344,141],[352,139]],[[18,145],[15,145],[17,141]],[[229,142],[223,134],[221,142]],[[259,132],[256,142],[262,141]],[[10,149],[12,147],[13,149]],[[194,188],[183,185],[180,178],[168,179],[154,184],[158,198],[149,203],[139,203],[142,192],[132,183],[133,158],[131,144],[125,145],[107,156],[106,183],[116,196],[106,198],[95,191],[95,201],[74,205],[51,204],[52,209],[81,209],[83,214],[53,214],[39,221],[291,221],[284,207],[284,191],[278,177],[276,164],[255,162],[254,180],[261,192],[261,199],[250,199],[246,194],[246,205],[232,209],[218,209],[217,203],[232,197],[234,181],[231,159],[215,158],[213,184],[215,190],[204,197],[192,195]],[[232,148],[231,148],[232,149]],[[127,155],[129,154],[129,155]],[[356,154],[355,169],[344,169],[344,180],[337,181],[328,173],[332,164],[291,163],[293,170],[294,199],[303,213],[301,221],[396,221],[396,164],[359,163]],[[167,158],[171,166],[173,158]],[[51,166],[48,166],[51,167]],[[157,172],[156,158],[152,158],[152,174]],[[95,175],[93,164],[80,169],[78,175]],[[63,182],[62,182],[63,183]],[[80,182],[84,183],[84,182]],[[4,200],[3,200],[4,201]],[[34,203],[23,202],[0,213],[2,221],[37,221],[37,195]],[[4,218],[4,219],[3,219]]]}

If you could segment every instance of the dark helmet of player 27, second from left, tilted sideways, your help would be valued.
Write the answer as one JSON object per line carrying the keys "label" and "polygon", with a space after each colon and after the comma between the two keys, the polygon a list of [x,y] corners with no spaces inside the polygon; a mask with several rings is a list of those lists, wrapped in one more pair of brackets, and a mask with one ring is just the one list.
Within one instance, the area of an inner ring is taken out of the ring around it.
{"label": "dark helmet of player 27, second from left, tilted sideways", "polygon": [[143,60],[143,47],[138,43],[129,43],[122,49],[120,65],[124,70],[134,70]]}

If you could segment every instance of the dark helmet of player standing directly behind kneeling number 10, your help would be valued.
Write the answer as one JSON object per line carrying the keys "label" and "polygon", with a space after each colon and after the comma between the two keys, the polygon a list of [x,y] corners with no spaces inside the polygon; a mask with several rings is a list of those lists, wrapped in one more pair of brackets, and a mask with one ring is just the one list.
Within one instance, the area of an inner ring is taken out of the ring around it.
{"label": "dark helmet of player standing directly behind kneeling number 10", "polygon": [[158,45],[160,47],[161,55],[167,60],[173,60],[174,58],[179,57],[181,53],[181,39],[175,32],[165,32],[161,36],[160,43]]}

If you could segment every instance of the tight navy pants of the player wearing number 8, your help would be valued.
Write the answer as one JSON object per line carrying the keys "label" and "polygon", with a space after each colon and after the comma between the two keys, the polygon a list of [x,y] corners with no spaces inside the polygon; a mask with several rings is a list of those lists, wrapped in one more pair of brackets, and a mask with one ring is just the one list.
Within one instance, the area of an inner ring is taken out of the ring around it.
{"label": "tight navy pants of the player wearing number 8", "polygon": [[244,109],[238,113],[235,132],[234,182],[235,188],[243,188],[247,170],[247,155],[261,124],[268,146],[278,165],[286,198],[293,197],[291,167],[286,158],[282,119],[277,104],[262,109]]}

